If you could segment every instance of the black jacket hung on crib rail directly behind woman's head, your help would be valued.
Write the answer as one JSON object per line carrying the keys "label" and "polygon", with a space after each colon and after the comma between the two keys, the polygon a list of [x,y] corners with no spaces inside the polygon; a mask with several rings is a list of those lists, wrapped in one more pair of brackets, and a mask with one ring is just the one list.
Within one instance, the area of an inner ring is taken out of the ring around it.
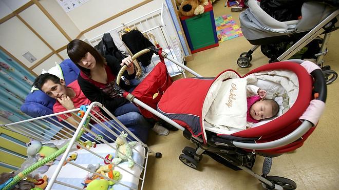
{"label": "black jacket hung on crib rail directly behind woman's head", "polygon": [[103,57],[106,55],[111,55],[117,58],[119,61],[122,61],[122,59],[126,57],[119,51],[113,41],[112,36],[110,36],[109,33],[104,34],[99,44],[94,48],[98,50]]}

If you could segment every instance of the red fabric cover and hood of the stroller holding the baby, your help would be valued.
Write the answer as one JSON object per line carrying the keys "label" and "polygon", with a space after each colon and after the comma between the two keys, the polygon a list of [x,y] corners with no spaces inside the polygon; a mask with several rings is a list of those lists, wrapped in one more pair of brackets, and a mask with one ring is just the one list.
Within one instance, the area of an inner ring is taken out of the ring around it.
{"label": "red fabric cover and hood of the stroller holding the baby", "polygon": [[[299,90],[295,103],[287,113],[279,118],[257,126],[256,128],[233,133],[230,136],[260,139],[256,140],[257,143],[269,142],[288,135],[302,123],[299,121],[299,117],[306,111],[312,99],[312,78],[303,66],[294,62],[268,64],[251,71],[247,75],[268,70],[289,70],[296,74],[299,82]],[[231,70],[221,72],[216,78],[228,71]],[[167,89],[159,101],[157,110],[188,129],[193,136],[202,135],[204,142],[206,142],[207,137],[205,137],[204,134],[203,122],[205,116],[202,115],[202,110],[204,109],[203,103],[216,78],[184,78],[173,82],[173,85]],[[313,130],[314,128],[311,128],[309,132],[298,141],[277,149],[262,152],[280,153],[295,150],[302,146],[303,142]],[[216,135],[224,136],[225,138],[228,136],[223,134]]]}

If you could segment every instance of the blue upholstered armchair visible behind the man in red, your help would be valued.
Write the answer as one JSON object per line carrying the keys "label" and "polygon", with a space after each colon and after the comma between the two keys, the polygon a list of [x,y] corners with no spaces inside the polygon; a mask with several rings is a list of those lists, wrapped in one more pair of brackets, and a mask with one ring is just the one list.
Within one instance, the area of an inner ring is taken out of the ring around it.
{"label": "blue upholstered armchair visible behind the man in red", "polygon": [[[60,67],[63,72],[66,86],[78,79],[80,69],[70,59],[62,61]],[[54,103],[55,99],[47,96],[44,92],[37,90],[27,95],[25,103],[21,106],[21,111],[31,117],[40,117],[52,114]]]}

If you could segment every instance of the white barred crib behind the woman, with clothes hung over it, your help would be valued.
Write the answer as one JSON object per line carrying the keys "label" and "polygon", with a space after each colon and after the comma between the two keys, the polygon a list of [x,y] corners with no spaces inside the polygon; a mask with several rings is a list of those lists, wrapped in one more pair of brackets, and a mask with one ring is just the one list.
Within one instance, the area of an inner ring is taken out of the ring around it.
{"label": "white barred crib behind the woman, with clothes hung over it", "polygon": [[[170,12],[168,12],[167,6],[162,4],[161,8],[151,11],[143,16],[130,20],[127,23],[123,23],[120,26],[117,26],[105,33],[115,33],[121,31],[124,27],[128,28],[138,28],[138,30],[148,35],[148,38],[151,38],[150,35],[155,36],[157,43],[163,48],[163,51],[168,54],[168,56],[173,57],[176,61],[184,63],[184,53],[180,45],[179,37],[177,35],[176,29],[172,22]],[[104,33],[104,34],[105,34]],[[104,34],[100,34],[91,39],[86,39],[92,46],[96,46],[102,39]],[[151,38],[152,39],[152,38]],[[155,41],[150,40],[153,44]],[[154,66],[160,61],[157,55],[153,55],[151,64],[145,68],[148,73],[154,68]],[[184,70],[181,67],[173,64],[173,62],[165,60],[168,73],[170,76],[182,75],[185,77]]]}

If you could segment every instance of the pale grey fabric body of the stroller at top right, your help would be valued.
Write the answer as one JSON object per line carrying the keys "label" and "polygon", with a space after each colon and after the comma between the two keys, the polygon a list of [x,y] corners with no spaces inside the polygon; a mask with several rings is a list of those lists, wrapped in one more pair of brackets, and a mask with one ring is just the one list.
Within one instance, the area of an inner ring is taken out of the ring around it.
{"label": "pale grey fabric body of the stroller at top right", "polygon": [[241,31],[248,40],[310,31],[336,10],[326,4],[305,2],[301,19],[279,22],[262,10],[256,0],[249,0],[248,6],[249,8],[239,15]]}

